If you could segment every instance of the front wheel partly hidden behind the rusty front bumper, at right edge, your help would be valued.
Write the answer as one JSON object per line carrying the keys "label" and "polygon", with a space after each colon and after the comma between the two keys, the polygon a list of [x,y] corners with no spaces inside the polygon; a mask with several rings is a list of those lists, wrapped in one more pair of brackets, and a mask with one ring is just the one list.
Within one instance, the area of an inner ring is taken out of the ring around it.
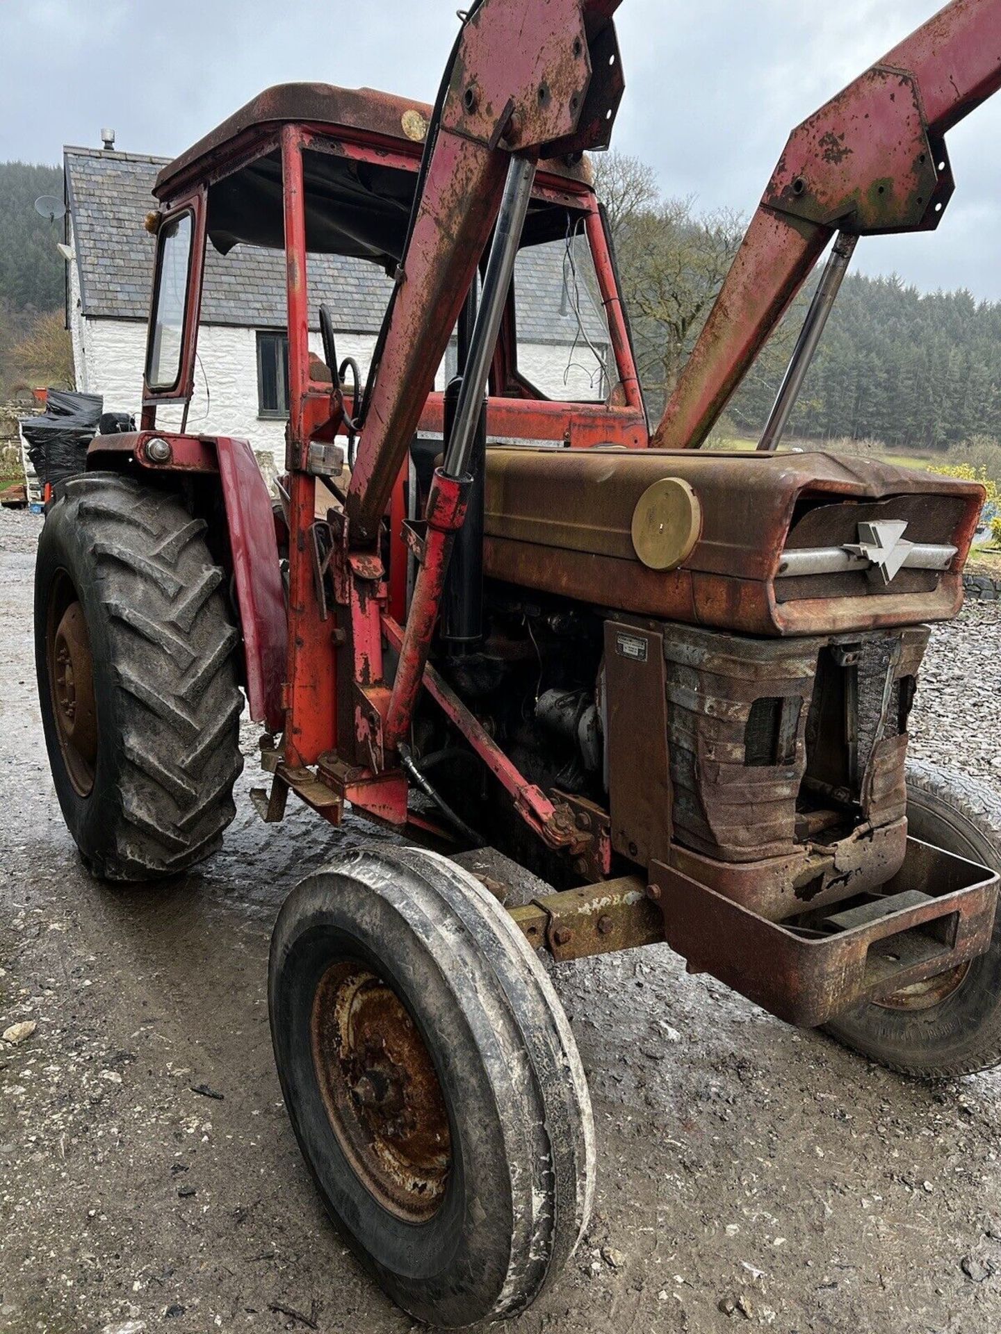
{"label": "front wheel partly hidden behind the rusty front bumper, at right edge", "polygon": [[[982,783],[908,763],[908,830],[1001,871],[1001,802]],[[970,963],[868,1002],[827,1026],[840,1042],[902,1074],[942,1079],[1001,1065],[1001,914]]]}

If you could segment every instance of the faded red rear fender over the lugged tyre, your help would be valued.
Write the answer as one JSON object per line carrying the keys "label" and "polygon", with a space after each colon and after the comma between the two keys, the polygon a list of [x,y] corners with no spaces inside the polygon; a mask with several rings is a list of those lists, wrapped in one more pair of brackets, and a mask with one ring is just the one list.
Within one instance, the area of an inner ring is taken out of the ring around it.
{"label": "faded red rear fender over the lugged tyre", "polygon": [[[170,458],[149,458],[149,442],[165,440]],[[282,682],[286,672],[287,620],[271,496],[246,440],[231,436],[137,431],[96,436],[87,468],[168,474],[178,479],[218,479],[226,511],[236,604],[243,630],[247,702],[256,723],[278,732],[284,724]]]}

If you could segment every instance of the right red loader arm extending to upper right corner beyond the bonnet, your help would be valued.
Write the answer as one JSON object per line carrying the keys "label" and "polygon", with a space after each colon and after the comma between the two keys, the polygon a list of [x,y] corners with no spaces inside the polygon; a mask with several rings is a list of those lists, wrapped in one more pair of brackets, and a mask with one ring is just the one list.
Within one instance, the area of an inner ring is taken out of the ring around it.
{"label": "right red loader arm extending to upper right corner beyond the bonnet", "polygon": [[651,446],[698,448],[838,231],[930,231],[944,135],[1001,87],[1001,0],[953,0],[786,144]]}

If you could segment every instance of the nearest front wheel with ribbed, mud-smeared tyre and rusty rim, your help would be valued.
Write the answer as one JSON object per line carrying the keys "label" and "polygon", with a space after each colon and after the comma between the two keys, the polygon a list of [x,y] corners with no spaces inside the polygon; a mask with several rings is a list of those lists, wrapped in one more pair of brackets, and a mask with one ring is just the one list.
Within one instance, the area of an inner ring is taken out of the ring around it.
{"label": "nearest front wheel with ribbed, mud-smeared tyre and rusty rim", "polygon": [[478,880],[432,852],[356,851],[275,926],[271,1033],[323,1203],[404,1310],[514,1315],[587,1222],[594,1131],[538,959]]}

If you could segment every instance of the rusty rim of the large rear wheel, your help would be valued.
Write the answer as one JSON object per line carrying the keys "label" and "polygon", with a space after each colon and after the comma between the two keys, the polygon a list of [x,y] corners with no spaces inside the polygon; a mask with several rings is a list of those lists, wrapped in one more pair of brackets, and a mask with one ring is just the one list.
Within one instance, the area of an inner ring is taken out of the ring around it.
{"label": "rusty rim of the large rear wheel", "polygon": [[79,796],[93,791],[97,763],[97,702],[87,620],[65,575],[49,599],[47,667],[52,716],[67,775]]}

